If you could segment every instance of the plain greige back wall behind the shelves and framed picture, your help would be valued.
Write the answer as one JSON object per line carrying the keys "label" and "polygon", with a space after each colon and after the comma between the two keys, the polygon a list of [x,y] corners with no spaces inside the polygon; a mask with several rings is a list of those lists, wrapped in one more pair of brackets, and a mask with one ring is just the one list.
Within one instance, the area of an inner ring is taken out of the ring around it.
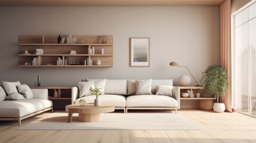
{"label": "plain greige back wall behind the shelves and framed picture", "polygon": [[[220,63],[219,6],[0,6],[0,81],[76,85],[82,78],[201,79]],[[18,67],[18,35],[113,35],[114,67]],[[129,67],[129,38],[150,38],[150,67]],[[192,82],[195,85],[195,82]]]}

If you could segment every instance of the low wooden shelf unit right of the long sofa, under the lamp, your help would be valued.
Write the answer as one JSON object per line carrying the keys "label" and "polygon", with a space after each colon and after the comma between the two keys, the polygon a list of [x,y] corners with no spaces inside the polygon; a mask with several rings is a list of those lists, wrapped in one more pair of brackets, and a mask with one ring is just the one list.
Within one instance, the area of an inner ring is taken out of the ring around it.
{"label": "low wooden shelf unit right of the long sofa, under the lamp", "polygon": [[[181,108],[201,108],[202,110],[211,110],[213,106],[212,97],[203,97],[202,86],[179,86]],[[196,98],[196,90],[199,90],[200,97]],[[189,92],[189,97],[182,97],[183,92]],[[192,95],[193,94],[193,95]]]}

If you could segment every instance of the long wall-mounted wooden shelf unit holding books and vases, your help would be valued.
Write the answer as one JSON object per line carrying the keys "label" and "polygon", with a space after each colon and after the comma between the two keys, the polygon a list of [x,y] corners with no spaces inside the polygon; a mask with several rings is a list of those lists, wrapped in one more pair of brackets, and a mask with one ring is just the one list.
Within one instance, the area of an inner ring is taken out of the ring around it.
{"label": "long wall-mounted wooden shelf unit holding books and vases", "polygon": [[[61,37],[67,39],[67,35]],[[18,66],[113,67],[113,36],[106,36],[106,43],[97,43],[98,36],[73,37],[76,38],[76,43],[70,44],[66,40],[64,43],[57,43],[57,35],[18,36]],[[91,52],[92,49],[94,53]],[[76,51],[76,54],[70,54],[71,51]],[[101,61],[100,65],[97,64],[98,59]]]}

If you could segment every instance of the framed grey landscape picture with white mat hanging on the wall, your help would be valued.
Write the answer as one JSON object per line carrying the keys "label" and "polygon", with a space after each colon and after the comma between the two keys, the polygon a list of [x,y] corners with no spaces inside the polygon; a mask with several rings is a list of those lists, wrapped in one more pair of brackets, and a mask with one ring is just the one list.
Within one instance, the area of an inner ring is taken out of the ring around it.
{"label": "framed grey landscape picture with white mat hanging on the wall", "polygon": [[149,67],[149,38],[129,39],[129,66]]}

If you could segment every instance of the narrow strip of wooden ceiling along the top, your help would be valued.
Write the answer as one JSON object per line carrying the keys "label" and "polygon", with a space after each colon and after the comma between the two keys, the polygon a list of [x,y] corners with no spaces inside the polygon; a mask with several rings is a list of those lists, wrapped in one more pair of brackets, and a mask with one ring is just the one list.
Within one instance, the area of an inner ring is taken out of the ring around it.
{"label": "narrow strip of wooden ceiling along the top", "polygon": [[0,5],[220,5],[224,0],[0,0]]}

